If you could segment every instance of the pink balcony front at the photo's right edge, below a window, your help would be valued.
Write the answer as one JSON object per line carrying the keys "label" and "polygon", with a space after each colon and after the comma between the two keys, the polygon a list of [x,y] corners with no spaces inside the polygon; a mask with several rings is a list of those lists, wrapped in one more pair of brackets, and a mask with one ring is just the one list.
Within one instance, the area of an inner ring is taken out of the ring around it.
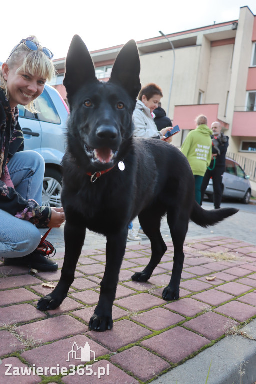
{"label": "pink balcony front at the photo's right edge, below a window", "polygon": [[256,111],[234,112],[232,136],[256,137]]}

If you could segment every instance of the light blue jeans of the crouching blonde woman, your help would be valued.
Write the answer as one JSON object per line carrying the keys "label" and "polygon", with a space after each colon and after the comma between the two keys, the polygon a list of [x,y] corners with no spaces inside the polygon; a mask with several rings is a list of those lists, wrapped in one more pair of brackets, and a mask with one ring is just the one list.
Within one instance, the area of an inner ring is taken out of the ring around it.
{"label": "light blue jeans of the crouching blonde woman", "polygon": [[[26,200],[42,205],[44,159],[32,150],[17,152],[8,163],[15,190]],[[22,257],[33,252],[41,240],[31,222],[21,220],[0,209],[0,256]]]}

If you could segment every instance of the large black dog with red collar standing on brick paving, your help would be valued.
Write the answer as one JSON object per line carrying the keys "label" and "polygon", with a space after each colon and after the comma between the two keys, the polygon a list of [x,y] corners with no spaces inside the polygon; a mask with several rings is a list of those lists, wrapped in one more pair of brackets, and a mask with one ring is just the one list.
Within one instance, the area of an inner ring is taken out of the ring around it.
{"label": "large black dog with red collar standing on brick paving", "polygon": [[79,36],[73,37],[64,79],[70,105],[62,189],[65,258],[58,285],[39,300],[38,309],[55,309],[66,297],[89,228],[107,238],[99,302],[89,322],[91,329],[99,331],[113,326],[112,305],[128,223],[134,217],[138,215],[151,241],[152,256],[132,279],[147,281],[167,249],[160,233],[161,218],[167,214],[174,263],[163,298],[173,300],[179,298],[189,218],[206,227],[237,212],[232,208],[203,210],[195,202],[194,177],[180,150],[161,140],[132,137],[139,72],[132,40],[118,54],[110,80],[98,81],[86,46]]}

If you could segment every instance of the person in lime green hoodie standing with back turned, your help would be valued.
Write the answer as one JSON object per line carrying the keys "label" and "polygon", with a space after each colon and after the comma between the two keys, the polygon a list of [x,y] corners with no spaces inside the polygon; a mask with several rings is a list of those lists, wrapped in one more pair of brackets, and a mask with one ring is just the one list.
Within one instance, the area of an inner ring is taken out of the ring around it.
{"label": "person in lime green hoodie standing with back turned", "polygon": [[211,162],[211,134],[207,126],[207,117],[199,115],[196,119],[196,129],[191,130],[181,146],[181,152],[186,156],[195,180],[195,200],[201,202],[201,185],[207,166]]}

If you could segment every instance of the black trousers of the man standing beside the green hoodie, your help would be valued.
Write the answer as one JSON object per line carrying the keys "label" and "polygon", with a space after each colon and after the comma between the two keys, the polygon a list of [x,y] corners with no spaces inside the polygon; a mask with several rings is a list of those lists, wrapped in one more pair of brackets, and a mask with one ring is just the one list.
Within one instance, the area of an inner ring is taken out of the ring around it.
{"label": "black trousers of the man standing beside the green hoodie", "polygon": [[[209,183],[210,177],[213,181],[213,196],[214,196],[214,208],[220,208],[221,198],[222,198],[222,176],[225,171],[224,166],[215,166],[213,170],[206,170],[206,173],[203,177],[202,186],[201,186],[201,200]],[[202,202],[202,201],[201,201]]]}

